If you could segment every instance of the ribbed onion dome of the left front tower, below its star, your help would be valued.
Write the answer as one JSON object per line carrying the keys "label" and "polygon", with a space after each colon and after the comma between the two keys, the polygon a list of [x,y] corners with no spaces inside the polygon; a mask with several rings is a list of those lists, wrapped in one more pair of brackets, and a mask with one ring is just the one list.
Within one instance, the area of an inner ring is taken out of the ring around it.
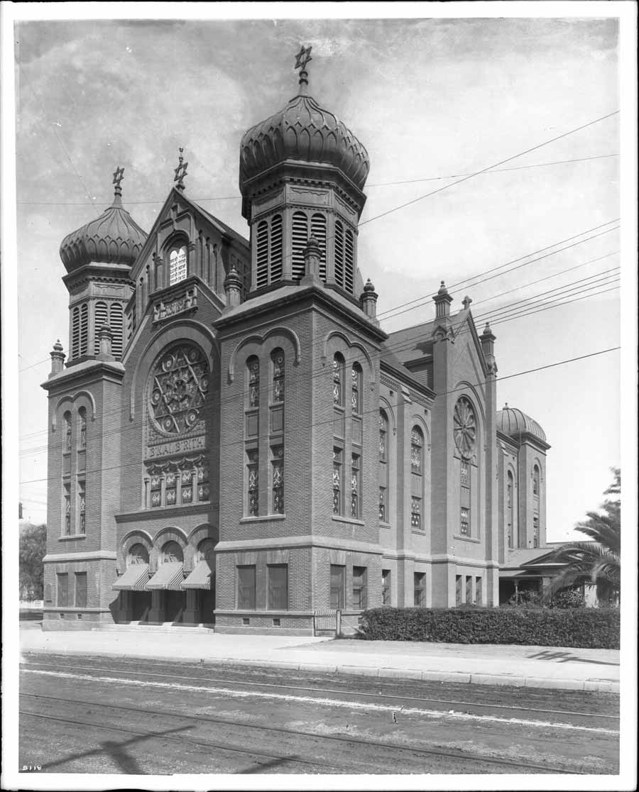
{"label": "ribbed onion dome of the left front tower, below its star", "polygon": [[106,211],[63,239],[60,258],[67,272],[92,261],[131,267],[146,239],[147,234],[122,206],[118,185],[113,204]]}

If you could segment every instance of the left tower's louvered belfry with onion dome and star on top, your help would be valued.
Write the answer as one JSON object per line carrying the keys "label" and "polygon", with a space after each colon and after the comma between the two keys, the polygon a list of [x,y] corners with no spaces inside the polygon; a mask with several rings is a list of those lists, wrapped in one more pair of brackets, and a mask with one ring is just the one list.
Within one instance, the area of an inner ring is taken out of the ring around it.
{"label": "left tower's louvered belfry with onion dome and star on top", "polygon": [[113,333],[113,356],[124,349],[124,307],[133,293],[129,277],[147,234],[122,205],[124,168],[113,173],[113,204],[78,230],[67,234],[60,258],[70,295],[69,360],[73,365],[100,354],[100,330]]}

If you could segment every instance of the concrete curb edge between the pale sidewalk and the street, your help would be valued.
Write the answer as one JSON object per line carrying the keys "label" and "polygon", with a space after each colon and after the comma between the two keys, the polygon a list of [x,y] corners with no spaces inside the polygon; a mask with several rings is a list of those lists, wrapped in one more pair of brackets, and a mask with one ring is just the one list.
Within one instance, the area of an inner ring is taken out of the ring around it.
{"label": "concrete curb edge between the pale sidewalk and the street", "polygon": [[[33,654],[52,653],[52,649],[28,649]],[[55,652],[59,653],[59,651]],[[67,650],[63,654],[82,654],[87,655],[86,651],[76,652]],[[105,657],[104,655],[94,655],[94,657]],[[108,657],[132,658],[130,654],[109,653]],[[166,655],[146,655],[147,660],[170,661]],[[174,658],[173,658],[174,659]],[[371,676],[376,679],[393,680],[419,680],[421,682],[455,682],[461,684],[478,684],[508,687],[538,687],[550,690],[574,690],[599,693],[616,693],[619,695],[619,683],[613,680],[561,680],[553,677],[536,676],[511,676],[510,674],[470,674],[465,672],[446,672],[446,671],[423,671],[421,668],[388,668],[376,667],[371,665],[348,665],[337,663],[298,663],[285,660],[248,660],[244,657],[209,657],[202,658],[199,662],[196,658],[182,658],[182,660],[192,664],[232,666],[243,665],[251,668],[281,668],[288,671],[306,671],[328,674],[339,674],[340,676]]]}

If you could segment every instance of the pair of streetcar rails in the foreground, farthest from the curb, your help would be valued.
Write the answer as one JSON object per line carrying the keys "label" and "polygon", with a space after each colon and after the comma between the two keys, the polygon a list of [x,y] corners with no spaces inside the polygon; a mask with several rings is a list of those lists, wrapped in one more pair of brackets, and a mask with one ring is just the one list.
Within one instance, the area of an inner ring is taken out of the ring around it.
{"label": "pair of streetcar rails in the foreground, farthest from the curb", "polygon": [[[410,745],[399,745],[396,743],[388,743],[383,741],[374,741],[370,740],[369,738],[360,738],[360,737],[340,737],[339,735],[335,734],[318,734],[314,732],[303,731],[301,729],[287,729],[283,726],[262,726],[254,723],[248,723],[243,721],[232,721],[225,718],[211,718],[205,715],[186,715],[186,714],[168,714],[163,712],[162,710],[151,710],[151,709],[143,709],[140,707],[135,706],[126,706],[122,704],[103,704],[98,703],[95,701],[81,701],[80,699],[65,699],[59,696],[49,696],[49,695],[40,695],[34,693],[23,693],[22,696],[28,697],[30,699],[48,699],[56,702],[62,702],[66,704],[79,704],[79,705],[86,705],[86,706],[100,706],[107,709],[112,710],[127,710],[127,711],[134,711],[137,714],[146,714],[146,715],[159,715],[163,718],[170,717],[170,718],[177,718],[180,720],[194,721],[194,722],[202,722],[208,724],[217,724],[217,725],[224,725],[224,726],[239,726],[243,729],[257,729],[259,731],[266,731],[269,734],[274,732],[278,733],[285,733],[288,735],[296,736],[296,737],[310,737],[316,741],[334,741],[341,744],[357,744],[357,745],[365,745],[367,747],[373,746],[375,748],[386,748],[392,751],[401,751],[401,752],[409,752],[412,754],[416,754],[419,756],[446,756],[449,759],[454,760],[462,760],[462,761],[471,761],[471,762],[485,762],[492,765],[499,765],[502,767],[519,767],[525,768],[526,770],[536,770],[536,771],[543,771],[545,773],[561,773],[561,774],[574,774],[574,775],[589,775],[584,771],[576,771],[576,770],[567,770],[560,767],[552,767],[549,765],[541,765],[541,764],[534,764],[534,763],[527,763],[527,762],[516,762],[514,760],[507,760],[507,759],[495,759],[490,756],[482,756],[480,753],[472,753],[468,751],[462,751],[461,749],[442,749],[442,748],[417,748],[415,746]],[[87,726],[97,726],[101,729],[111,729],[113,731],[122,731],[124,733],[131,733],[137,736],[146,736],[146,737],[159,737],[163,740],[172,740],[178,742],[193,742],[193,744],[201,744],[203,747],[206,748],[221,748],[223,750],[228,750],[232,752],[244,753],[250,756],[265,756],[270,759],[287,759],[288,757],[278,756],[276,754],[270,754],[266,752],[258,752],[258,751],[248,751],[246,748],[234,748],[225,744],[218,744],[209,741],[191,741],[186,737],[171,737],[167,736],[163,733],[148,733],[145,734],[143,732],[135,732],[130,729],[124,729],[118,726],[105,726],[98,723],[86,723],[86,722],[79,722],[79,721],[72,721],[67,718],[59,718],[58,716],[54,715],[44,715],[40,713],[33,713],[27,712],[25,710],[19,710],[20,714],[29,715],[33,718],[43,718],[46,720],[53,720],[53,721],[60,721],[71,723],[73,725],[87,725]],[[322,765],[323,767],[334,767],[335,769],[343,770],[345,766],[337,767],[335,765],[329,765],[324,762],[311,762],[309,760],[296,760],[291,759],[290,761],[294,762],[301,762],[304,764],[315,764],[315,765]]]}

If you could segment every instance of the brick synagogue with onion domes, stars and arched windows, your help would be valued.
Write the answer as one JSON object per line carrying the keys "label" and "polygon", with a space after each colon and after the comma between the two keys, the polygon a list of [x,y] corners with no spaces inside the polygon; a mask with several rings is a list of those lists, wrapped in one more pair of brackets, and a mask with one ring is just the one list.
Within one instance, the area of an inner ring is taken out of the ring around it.
{"label": "brick synagogue with onion domes, stars and arched windows", "polygon": [[44,629],[312,634],[338,610],[492,606],[509,554],[545,546],[549,444],[498,409],[472,301],[442,281],[433,321],[381,329],[358,265],[369,156],[306,57],[240,144],[248,238],[189,199],[181,154],[148,233],[117,169],[60,246]]}

